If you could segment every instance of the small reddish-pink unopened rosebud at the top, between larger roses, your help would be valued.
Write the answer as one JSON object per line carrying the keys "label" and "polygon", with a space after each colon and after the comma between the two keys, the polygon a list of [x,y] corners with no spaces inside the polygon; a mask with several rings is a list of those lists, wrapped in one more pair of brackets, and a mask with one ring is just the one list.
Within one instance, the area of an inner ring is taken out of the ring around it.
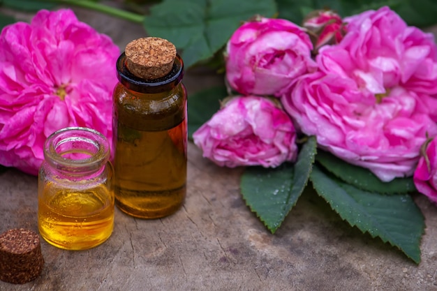
{"label": "small reddish-pink unopened rosebud at the top, between larger roses", "polygon": [[340,15],[332,10],[315,10],[307,15],[303,27],[308,29],[313,42],[313,53],[317,54],[323,45],[335,45],[346,34]]}

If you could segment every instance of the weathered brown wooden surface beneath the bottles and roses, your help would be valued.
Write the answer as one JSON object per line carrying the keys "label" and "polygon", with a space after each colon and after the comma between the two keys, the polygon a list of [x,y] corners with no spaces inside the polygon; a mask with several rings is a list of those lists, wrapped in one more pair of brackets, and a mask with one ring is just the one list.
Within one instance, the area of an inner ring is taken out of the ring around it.
{"label": "weathered brown wooden surface beneath the bottles and roses", "polygon": [[[144,33],[111,17],[77,15],[120,47]],[[221,78],[197,70],[184,82],[189,94]],[[147,221],[116,209],[104,244],[64,251],[42,241],[41,276],[24,285],[0,281],[0,290],[437,290],[437,207],[426,197],[415,197],[427,223],[416,265],[341,221],[312,191],[270,234],[239,194],[241,173],[213,165],[189,144],[188,193],[176,214]],[[36,213],[36,177],[1,173],[0,232],[38,231]]]}

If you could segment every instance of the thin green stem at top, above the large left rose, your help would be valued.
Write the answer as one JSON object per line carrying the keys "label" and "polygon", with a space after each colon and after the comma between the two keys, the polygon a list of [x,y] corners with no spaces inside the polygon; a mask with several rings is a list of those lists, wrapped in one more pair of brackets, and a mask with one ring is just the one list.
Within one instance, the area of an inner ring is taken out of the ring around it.
{"label": "thin green stem at top, above the large left rose", "polygon": [[126,10],[121,10],[118,8],[114,8],[114,7],[104,5],[101,3],[96,3],[93,1],[87,1],[87,0],[48,0],[48,1],[54,2],[54,3],[69,4],[69,5],[73,5],[73,6],[88,8],[88,9],[95,10],[95,11],[98,11],[101,13],[105,13],[108,15],[119,17],[121,19],[128,20],[131,22],[141,23],[145,20],[144,15],[140,15],[137,13],[131,13],[131,12],[128,12]]}

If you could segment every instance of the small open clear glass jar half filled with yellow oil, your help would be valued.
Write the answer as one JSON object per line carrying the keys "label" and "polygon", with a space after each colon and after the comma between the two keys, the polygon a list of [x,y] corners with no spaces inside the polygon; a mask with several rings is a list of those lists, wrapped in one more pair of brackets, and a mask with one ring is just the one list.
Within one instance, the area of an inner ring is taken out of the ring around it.
{"label": "small open clear glass jar half filled with yellow oil", "polygon": [[84,250],[102,244],[114,227],[110,144],[90,128],[57,130],[44,144],[38,174],[38,229],[49,244]]}

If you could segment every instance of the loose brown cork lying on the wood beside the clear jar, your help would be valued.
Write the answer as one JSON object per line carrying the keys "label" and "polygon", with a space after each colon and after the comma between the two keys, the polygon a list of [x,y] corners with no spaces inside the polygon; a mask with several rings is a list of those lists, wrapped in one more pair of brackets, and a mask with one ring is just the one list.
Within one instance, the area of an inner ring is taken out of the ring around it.
{"label": "loose brown cork lying on the wood beside the clear jar", "polygon": [[36,279],[44,259],[38,234],[15,228],[0,234],[0,280],[24,284]]}

